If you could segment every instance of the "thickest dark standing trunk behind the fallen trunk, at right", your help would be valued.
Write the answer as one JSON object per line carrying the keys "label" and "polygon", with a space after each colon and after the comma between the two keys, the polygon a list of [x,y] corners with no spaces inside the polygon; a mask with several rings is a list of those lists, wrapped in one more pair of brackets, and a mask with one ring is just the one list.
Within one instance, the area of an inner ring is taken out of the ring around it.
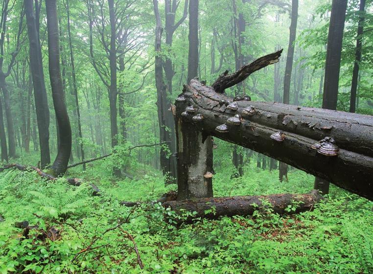
{"label": "thickest dark standing trunk behind the fallen trunk, at right", "polygon": [[[329,33],[326,46],[325,80],[323,94],[323,109],[336,110],[338,100],[339,70],[341,68],[341,53],[343,30],[347,0],[333,0],[329,23]],[[314,189],[323,194],[329,193],[329,182],[316,177]]]}

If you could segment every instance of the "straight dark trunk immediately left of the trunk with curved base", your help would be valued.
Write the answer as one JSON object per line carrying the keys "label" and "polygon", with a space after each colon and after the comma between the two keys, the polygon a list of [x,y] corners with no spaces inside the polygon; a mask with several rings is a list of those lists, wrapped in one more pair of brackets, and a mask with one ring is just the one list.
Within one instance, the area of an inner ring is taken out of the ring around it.
{"label": "straight dark trunk immediately left of the trunk with curved base", "polygon": [[[36,6],[35,10],[39,8]],[[24,0],[29,41],[30,67],[34,88],[36,118],[39,130],[41,168],[50,164],[49,154],[49,109],[47,90],[44,82],[44,71],[39,41],[39,24],[33,8],[33,1]]]}

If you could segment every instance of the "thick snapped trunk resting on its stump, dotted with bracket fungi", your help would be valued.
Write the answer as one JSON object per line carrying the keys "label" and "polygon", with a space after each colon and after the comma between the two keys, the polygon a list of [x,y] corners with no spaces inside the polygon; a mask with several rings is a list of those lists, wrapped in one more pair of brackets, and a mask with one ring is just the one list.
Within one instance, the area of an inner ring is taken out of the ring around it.
{"label": "thick snapped trunk resting on its stump, dotted with bracket fungi", "polygon": [[[236,101],[238,108],[232,110],[225,103],[232,98],[196,79],[181,95],[185,99],[176,100],[175,119],[193,123],[204,138],[215,136],[253,149],[373,200],[373,116],[245,100]],[[182,115],[187,106],[194,113]],[[203,119],[193,119],[197,114]],[[240,115],[239,125],[227,121],[235,114]],[[218,132],[216,127],[224,123],[228,132]],[[279,131],[283,141],[271,138]],[[325,137],[335,139],[337,156],[314,148]]]}

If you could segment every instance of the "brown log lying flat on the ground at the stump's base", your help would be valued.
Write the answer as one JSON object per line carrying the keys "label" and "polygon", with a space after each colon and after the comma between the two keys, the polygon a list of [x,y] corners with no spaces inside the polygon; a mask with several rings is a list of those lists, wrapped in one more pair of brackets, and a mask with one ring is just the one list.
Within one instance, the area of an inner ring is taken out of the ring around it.
{"label": "brown log lying flat on the ground at the stump's base", "polygon": [[[193,219],[202,217],[208,219],[217,219],[221,216],[232,217],[235,215],[246,216],[252,215],[255,210],[266,209],[263,206],[263,200],[268,201],[273,210],[279,214],[293,214],[311,210],[314,205],[322,199],[317,190],[312,190],[309,194],[273,194],[264,196],[233,196],[233,197],[216,197],[200,198],[194,201],[170,201],[163,203],[165,208],[170,207],[177,214],[186,210],[197,212],[194,216],[189,216],[186,220],[175,220],[178,223],[192,222]],[[295,211],[286,211],[286,207],[297,204]],[[206,210],[214,208],[212,212],[205,213]]]}

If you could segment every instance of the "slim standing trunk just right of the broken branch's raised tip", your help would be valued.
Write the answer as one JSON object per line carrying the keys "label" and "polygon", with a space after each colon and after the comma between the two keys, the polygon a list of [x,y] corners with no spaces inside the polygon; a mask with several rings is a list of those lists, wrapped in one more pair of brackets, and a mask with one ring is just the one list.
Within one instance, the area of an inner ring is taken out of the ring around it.
{"label": "slim standing trunk just right of the broken branch's raised tip", "polygon": [[[298,21],[298,0],[292,0],[291,4],[291,23],[290,23],[290,36],[289,46],[287,48],[285,77],[283,79],[283,103],[290,104],[290,81],[291,71],[293,68],[294,57],[294,41],[297,34],[297,21]],[[287,164],[280,162],[279,179],[282,182],[283,177],[287,179]]]}

